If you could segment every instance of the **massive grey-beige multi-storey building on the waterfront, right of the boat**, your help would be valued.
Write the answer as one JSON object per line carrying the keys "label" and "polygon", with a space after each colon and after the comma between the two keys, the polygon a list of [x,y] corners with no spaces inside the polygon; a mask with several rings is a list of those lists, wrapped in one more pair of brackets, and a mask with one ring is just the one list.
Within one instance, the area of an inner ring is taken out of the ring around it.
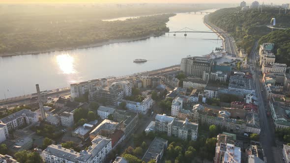
{"label": "massive grey-beige multi-storey building on the waterfront, right of the boat", "polygon": [[187,57],[181,59],[181,71],[187,76],[203,78],[203,71],[211,71],[212,59],[207,57]]}

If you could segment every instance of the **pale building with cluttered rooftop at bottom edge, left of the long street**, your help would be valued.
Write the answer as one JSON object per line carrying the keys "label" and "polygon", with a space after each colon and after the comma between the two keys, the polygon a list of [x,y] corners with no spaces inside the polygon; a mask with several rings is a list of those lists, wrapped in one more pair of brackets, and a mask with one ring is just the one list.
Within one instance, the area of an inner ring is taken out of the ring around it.
{"label": "pale building with cluttered rooftop at bottom edge, left of the long street", "polygon": [[241,148],[234,145],[232,136],[217,136],[214,163],[241,163]]}

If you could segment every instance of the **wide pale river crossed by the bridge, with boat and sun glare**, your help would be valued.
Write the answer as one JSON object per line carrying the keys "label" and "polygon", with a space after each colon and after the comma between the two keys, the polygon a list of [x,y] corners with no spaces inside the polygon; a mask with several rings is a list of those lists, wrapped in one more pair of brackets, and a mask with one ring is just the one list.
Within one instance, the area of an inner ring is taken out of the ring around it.
{"label": "wide pale river crossed by the bridge, with boat and sun glare", "polygon": [[[213,10],[207,10],[213,11]],[[178,13],[167,26],[171,31],[184,27],[210,30],[203,24],[204,14]],[[0,57],[0,99],[67,87],[70,83],[108,76],[123,76],[180,64],[187,55],[209,54],[222,45],[215,33],[165,34],[145,40],[101,47],[33,55]],[[144,58],[145,63],[133,63]]]}

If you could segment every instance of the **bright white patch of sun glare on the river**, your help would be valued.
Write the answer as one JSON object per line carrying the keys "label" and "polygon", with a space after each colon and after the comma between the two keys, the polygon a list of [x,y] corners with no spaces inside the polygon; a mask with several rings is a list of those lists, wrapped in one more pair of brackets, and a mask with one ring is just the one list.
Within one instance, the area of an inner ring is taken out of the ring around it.
{"label": "bright white patch of sun glare on the river", "polygon": [[74,57],[69,54],[61,54],[57,56],[58,67],[63,74],[74,74]]}

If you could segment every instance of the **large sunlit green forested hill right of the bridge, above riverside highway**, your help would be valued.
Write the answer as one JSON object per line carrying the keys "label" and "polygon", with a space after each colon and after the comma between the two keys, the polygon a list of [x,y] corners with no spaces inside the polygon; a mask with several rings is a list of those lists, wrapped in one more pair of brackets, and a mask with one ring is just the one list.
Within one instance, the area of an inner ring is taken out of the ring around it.
{"label": "large sunlit green forested hill right of the bridge, above riverside highway", "polygon": [[240,7],[224,8],[209,14],[209,21],[232,32],[237,47],[245,49],[248,54],[256,40],[271,32],[266,25],[270,25],[272,18],[276,19],[275,27],[290,27],[290,12],[284,14],[284,10],[281,10],[279,15],[279,8],[273,7],[263,7],[262,12],[257,9],[241,11]]}

